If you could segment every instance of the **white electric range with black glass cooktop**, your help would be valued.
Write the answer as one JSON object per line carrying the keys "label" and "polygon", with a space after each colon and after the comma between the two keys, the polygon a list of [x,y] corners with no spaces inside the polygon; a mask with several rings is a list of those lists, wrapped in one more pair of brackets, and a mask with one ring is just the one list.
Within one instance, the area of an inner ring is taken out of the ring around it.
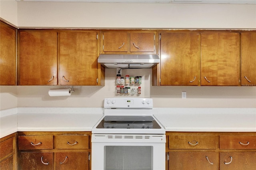
{"label": "white electric range with black glass cooktop", "polygon": [[92,128],[92,170],[165,170],[165,143],[152,99],[106,98]]}

